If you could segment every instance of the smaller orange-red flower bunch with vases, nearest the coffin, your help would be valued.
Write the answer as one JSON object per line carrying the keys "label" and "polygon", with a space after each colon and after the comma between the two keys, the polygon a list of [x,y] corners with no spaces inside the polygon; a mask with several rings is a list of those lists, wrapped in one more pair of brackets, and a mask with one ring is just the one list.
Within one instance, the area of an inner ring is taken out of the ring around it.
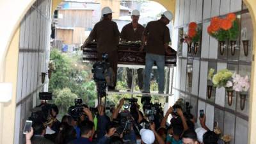
{"label": "smaller orange-red flower bunch with vases, nearest the coffin", "polygon": [[194,53],[196,54],[199,47],[200,38],[202,35],[202,29],[196,24],[196,22],[190,22],[188,28],[188,34],[184,34],[182,42],[188,44],[188,52],[191,53],[191,46],[193,44]]}

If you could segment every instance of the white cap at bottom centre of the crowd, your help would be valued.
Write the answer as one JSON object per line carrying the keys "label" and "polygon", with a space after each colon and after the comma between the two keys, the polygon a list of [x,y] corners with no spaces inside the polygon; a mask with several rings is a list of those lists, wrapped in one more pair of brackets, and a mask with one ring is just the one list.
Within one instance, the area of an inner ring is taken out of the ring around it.
{"label": "white cap at bottom centre of the crowd", "polygon": [[155,141],[154,132],[149,129],[141,129],[140,130],[141,141],[146,144],[152,144]]}

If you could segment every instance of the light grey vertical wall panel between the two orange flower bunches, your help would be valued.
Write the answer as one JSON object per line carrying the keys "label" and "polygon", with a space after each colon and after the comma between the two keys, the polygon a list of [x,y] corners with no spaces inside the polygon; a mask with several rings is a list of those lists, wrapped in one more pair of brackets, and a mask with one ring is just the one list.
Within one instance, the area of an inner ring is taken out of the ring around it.
{"label": "light grey vertical wall panel between the two orange flower bunches", "polygon": [[209,58],[209,40],[210,40],[210,36],[207,33],[207,27],[209,25],[210,25],[210,22],[203,23],[201,58]]}

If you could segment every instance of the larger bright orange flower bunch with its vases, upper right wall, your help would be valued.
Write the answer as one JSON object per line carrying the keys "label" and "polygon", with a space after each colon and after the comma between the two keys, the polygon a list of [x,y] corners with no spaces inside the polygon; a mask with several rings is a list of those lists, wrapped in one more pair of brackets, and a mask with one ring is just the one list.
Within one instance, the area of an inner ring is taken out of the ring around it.
{"label": "larger bright orange flower bunch with its vases, upper right wall", "polygon": [[230,40],[231,54],[235,54],[236,39],[239,36],[239,24],[235,13],[228,13],[224,19],[212,17],[211,24],[208,26],[207,31],[209,35],[220,42],[221,55],[224,53],[226,40]]}

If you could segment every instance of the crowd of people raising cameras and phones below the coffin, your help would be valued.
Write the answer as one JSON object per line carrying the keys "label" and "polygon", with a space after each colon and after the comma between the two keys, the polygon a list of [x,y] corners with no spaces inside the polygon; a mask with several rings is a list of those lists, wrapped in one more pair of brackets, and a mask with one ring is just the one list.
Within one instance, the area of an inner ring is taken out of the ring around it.
{"label": "crowd of people raising cameras and phones below the coffin", "polygon": [[[199,118],[201,127],[195,129],[195,116],[187,116],[178,103],[166,111],[158,126],[143,114],[145,111],[140,111],[137,102],[134,104],[136,113],[131,112],[132,108],[130,112],[125,112],[125,125],[122,122],[124,99],[120,100],[116,108],[111,109],[110,116],[106,115],[103,106],[98,106],[93,114],[83,104],[81,115],[65,115],[61,122],[57,119],[58,107],[53,105],[49,118],[45,122],[33,122],[31,131],[26,132],[26,144],[216,144],[218,141],[217,134],[209,131],[205,125],[205,115]],[[168,122],[169,116],[172,118]],[[132,121],[130,127],[127,126],[129,120]],[[143,126],[146,121],[148,127]]]}

